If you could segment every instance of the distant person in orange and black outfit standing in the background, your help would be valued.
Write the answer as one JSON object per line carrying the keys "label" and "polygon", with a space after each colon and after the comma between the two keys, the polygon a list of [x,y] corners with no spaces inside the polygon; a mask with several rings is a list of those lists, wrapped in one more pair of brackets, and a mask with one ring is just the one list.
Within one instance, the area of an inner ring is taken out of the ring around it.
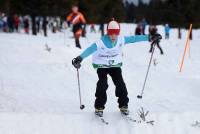
{"label": "distant person in orange and black outfit standing in the background", "polygon": [[79,38],[83,34],[86,26],[86,21],[82,13],[78,11],[78,6],[72,6],[72,13],[67,16],[67,23],[73,25],[72,31],[75,37],[76,47],[81,48]]}

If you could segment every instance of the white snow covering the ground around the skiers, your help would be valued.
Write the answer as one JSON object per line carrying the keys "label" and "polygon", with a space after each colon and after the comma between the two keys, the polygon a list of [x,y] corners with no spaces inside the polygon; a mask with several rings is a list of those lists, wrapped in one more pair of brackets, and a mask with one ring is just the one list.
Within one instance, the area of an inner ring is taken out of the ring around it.
{"label": "white snow covering the ground around the skiers", "polygon": [[[122,24],[122,35],[133,35],[135,25]],[[163,26],[158,26],[164,37]],[[89,31],[89,29],[88,29]],[[76,69],[71,60],[82,50],[75,48],[72,33],[63,30],[48,37],[0,33],[0,134],[199,134],[200,125],[200,30],[193,30],[190,57],[179,72],[187,30],[177,39],[163,39],[164,55],[156,48],[142,99],[140,94],[150,53],[149,42],[124,47],[123,77],[129,92],[131,116],[139,120],[138,109],[149,111],[154,125],[131,123],[119,114],[114,85],[109,78],[104,125],[96,120],[94,94],[97,75],[91,57],[80,69],[82,102],[79,109]],[[83,49],[99,39],[100,33],[81,38]],[[51,51],[46,50],[46,46]]]}

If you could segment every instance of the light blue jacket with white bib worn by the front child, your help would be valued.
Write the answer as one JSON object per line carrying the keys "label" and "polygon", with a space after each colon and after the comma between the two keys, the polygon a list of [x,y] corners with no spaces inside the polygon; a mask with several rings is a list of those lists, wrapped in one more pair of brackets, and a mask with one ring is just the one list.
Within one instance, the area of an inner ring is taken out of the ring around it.
{"label": "light blue jacket with white bib worn by the front child", "polygon": [[123,46],[139,41],[148,41],[148,35],[136,36],[118,36],[116,42],[112,42],[108,35],[104,35],[101,39],[81,53],[81,58],[93,55],[94,68],[110,68],[122,66],[122,50]]}

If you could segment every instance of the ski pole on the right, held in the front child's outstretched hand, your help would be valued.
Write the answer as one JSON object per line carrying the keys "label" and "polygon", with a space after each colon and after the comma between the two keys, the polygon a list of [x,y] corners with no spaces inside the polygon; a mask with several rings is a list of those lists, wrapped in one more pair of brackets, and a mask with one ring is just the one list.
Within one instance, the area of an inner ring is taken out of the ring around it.
{"label": "ski pole on the right, held in the front child's outstretched hand", "polygon": [[150,69],[150,66],[151,66],[151,61],[152,61],[152,58],[153,58],[153,53],[154,53],[154,50],[155,50],[155,45],[157,43],[158,43],[158,41],[154,41],[154,42],[151,43],[151,45],[153,45],[153,50],[152,50],[152,53],[151,53],[151,58],[150,58],[150,61],[149,61],[149,65],[148,65],[148,69],[147,69],[147,73],[146,73],[146,76],[145,76],[145,80],[144,80],[144,84],[143,84],[143,88],[142,88],[141,94],[137,96],[138,99],[141,99],[142,95],[144,93],[144,88],[145,88],[147,77],[148,77],[148,74],[149,74],[149,69]]}

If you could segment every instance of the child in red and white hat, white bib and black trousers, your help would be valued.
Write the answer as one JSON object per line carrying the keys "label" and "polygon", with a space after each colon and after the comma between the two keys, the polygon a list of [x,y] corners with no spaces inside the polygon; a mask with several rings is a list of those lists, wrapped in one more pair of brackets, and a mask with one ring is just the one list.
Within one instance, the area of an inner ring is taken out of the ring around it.
{"label": "child in red and white hat, white bib and black trousers", "polygon": [[[93,43],[82,54],[73,59],[72,64],[75,68],[81,67],[83,59],[93,54],[92,64],[97,69],[98,82],[96,87],[95,114],[103,116],[103,110],[107,101],[106,90],[108,88],[107,75],[110,75],[116,87],[115,95],[118,97],[120,112],[124,115],[129,114],[128,110],[128,92],[122,77],[122,47],[130,43],[139,41],[151,41],[160,39],[160,34],[120,36],[120,25],[112,20],[108,23],[107,34],[100,40]],[[131,44],[130,44],[131,45]]]}

